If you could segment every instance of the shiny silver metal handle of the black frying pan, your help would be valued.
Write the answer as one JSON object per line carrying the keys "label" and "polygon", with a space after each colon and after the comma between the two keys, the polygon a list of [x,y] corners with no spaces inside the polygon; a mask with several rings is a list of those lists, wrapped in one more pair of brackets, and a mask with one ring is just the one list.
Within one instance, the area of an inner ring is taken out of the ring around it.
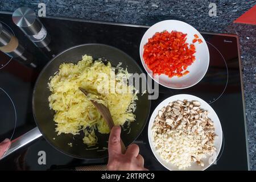
{"label": "shiny silver metal handle of the black frying pan", "polygon": [[[35,139],[42,136],[42,133],[40,133],[38,127],[35,127],[34,129],[28,131],[27,133],[21,135],[18,138],[15,138],[14,140],[11,140],[11,146],[10,148],[3,154],[2,158],[5,158],[6,156],[12,154],[19,148],[26,146],[26,144],[34,141]],[[0,159],[0,160],[1,160]]]}

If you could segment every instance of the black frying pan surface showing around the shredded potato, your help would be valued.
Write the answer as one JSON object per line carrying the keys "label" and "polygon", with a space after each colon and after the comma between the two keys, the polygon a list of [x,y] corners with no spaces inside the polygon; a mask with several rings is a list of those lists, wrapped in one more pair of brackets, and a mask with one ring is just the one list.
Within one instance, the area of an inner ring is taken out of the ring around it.
{"label": "black frying pan surface showing around the shredded potato", "polygon": [[[72,47],[61,52],[49,61],[40,73],[33,92],[32,107],[36,125],[38,125],[43,137],[46,138],[53,147],[74,158],[100,159],[108,156],[108,151],[97,152],[97,150],[86,150],[87,146],[82,143],[82,138],[84,137],[82,134],[76,135],[75,137],[72,134],[61,134],[57,136],[55,132],[55,122],[53,121],[54,111],[49,109],[48,102],[48,96],[51,94],[47,88],[49,77],[58,71],[61,63],[77,63],[85,54],[92,56],[94,59],[104,58],[109,60],[113,66],[122,62],[122,67],[126,68],[127,66],[129,73],[142,73],[142,69],[139,65],[129,55],[117,48],[104,44],[83,44]],[[143,79],[146,79],[146,77]],[[129,134],[127,134],[127,130],[122,130],[121,134],[126,146],[132,143],[143,130],[150,112],[150,104],[148,94],[143,94],[143,96],[141,96],[141,93],[138,94],[137,109],[135,111],[136,122],[131,123],[131,131]],[[97,137],[98,144],[96,147],[99,147],[98,150],[102,147],[108,147],[108,134],[97,133]],[[72,143],[72,147],[70,147],[68,143]]]}

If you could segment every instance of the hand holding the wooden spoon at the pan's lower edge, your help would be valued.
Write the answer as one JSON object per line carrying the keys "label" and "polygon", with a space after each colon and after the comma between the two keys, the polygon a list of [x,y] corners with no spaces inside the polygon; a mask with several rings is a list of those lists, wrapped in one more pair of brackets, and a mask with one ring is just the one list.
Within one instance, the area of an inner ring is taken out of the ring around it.
{"label": "hand holding the wooden spoon at the pan's lower edge", "polygon": [[121,152],[120,143],[121,127],[114,126],[109,135],[109,162],[107,169],[110,171],[145,171],[144,159],[139,154],[137,144],[130,144],[125,154]]}

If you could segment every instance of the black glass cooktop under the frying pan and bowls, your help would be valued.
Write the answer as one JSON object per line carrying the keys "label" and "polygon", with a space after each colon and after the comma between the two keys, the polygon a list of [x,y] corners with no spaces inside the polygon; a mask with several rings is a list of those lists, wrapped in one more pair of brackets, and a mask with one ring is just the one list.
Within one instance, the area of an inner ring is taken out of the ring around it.
{"label": "black glass cooktop under the frying pan and bowls", "polygon": [[[51,35],[50,54],[40,51],[15,27],[11,15],[0,14],[0,22],[9,26],[19,43],[38,60],[38,68],[27,68],[10,60],[0,52],[0,140],[15,139],[36,127],[32,116],[32,89],[42,67],[56,55],[72,46],[84,43],[102,43],[117,47],[133,57],[142,67],[139,43],[147,27],[103,22],[85,22],[77,19],[42,18]],[[203,98],[216,111],[223,130],[223,143],[217,164],[208,170],[248,169],[245,115],[241,68],[237,37],[203,32],[210,52],[207,74],[192,88],[183,90],[159,86],[158,100],[152,100],[151,113],[156,105],[174,94],[187,93]],[[143,67],[142,67],[143,68]],[[135,141],[145,159],[145,167],[166,170],[154,157],[148,144],[147,125]],[[46,152],[46,164],[39,164],[40,151]],[[37,170],[63,169],[88,164],[106,163],[107,159],[74,159],[55,150],[41,137],[0,160],[0,169]]]}

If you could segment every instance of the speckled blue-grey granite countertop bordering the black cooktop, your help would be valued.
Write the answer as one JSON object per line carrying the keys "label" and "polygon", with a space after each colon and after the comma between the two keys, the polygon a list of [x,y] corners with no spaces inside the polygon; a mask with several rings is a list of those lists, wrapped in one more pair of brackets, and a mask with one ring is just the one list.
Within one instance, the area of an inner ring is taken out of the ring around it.
{"label": "speckled blue-grey granite countertop bordering the black cooktop", "polygon": [[[233,20],[256,1],[122,1],[122,0],[1,0],[0,11],[14,11],[20,6],[38,10],[46,3],[46,14],[106,22],[151,25],[164,19],[183,20],[200,31],[238,34],[241,44],[243,87],[249,140],[250,166],[256,170],[256,26],[234,24]],[[210,17],[209,3],[217,5],[217,16]]]}

